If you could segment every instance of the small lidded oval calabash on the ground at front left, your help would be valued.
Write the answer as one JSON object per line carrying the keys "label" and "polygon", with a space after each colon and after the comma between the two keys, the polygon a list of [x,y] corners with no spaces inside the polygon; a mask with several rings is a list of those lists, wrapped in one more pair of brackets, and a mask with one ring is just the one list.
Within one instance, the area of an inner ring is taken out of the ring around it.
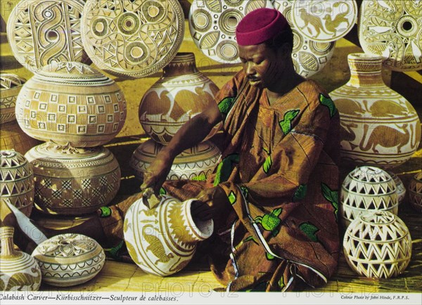
{"label": "small lidded oval calabash on the ground at front left", "polygon": [[32,256],[49,285],[69,287],[94,278],[104,266],[103,248],[85,235],[61,234],[41,242]]}

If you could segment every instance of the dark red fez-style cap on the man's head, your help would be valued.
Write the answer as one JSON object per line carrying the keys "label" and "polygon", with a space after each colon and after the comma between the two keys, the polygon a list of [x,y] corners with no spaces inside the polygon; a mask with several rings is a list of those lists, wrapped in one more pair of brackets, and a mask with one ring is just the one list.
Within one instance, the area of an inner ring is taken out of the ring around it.
{"label": "dark red fez-style cap on the man's head", "polygon": [[239,46],[262,44],[279,34],[287,25],[287,20],[273,8],[257,8],[246,14],[236,27]]}

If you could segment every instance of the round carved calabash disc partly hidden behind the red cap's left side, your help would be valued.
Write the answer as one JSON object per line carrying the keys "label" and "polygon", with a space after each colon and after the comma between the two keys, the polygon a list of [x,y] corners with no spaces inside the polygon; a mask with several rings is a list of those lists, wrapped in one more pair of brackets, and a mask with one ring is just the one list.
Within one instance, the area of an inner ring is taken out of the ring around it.
{"label": "round carved calabash disc partly hidden behind the red cap's left side", "polygon": [[257,8],[273,8],[270,0],[194,0],[189,30],[205,56],[219,63],[240,63],[236,26]]}

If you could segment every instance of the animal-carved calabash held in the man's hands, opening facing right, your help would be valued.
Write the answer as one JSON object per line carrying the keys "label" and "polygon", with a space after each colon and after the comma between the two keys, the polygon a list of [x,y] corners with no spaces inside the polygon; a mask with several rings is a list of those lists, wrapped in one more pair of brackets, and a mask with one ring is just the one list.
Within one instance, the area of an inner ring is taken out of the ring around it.
{"label": "animal-carved calabash held in the man's hands, opening facing right", "polygon": [[148,209],[136,200],[124,218],[124,240],[129,254],[145,272],[165,276],[184,268],[196,244],[212,235],[214,223],[193,222],[191,203],[162,195],[160,204]]}

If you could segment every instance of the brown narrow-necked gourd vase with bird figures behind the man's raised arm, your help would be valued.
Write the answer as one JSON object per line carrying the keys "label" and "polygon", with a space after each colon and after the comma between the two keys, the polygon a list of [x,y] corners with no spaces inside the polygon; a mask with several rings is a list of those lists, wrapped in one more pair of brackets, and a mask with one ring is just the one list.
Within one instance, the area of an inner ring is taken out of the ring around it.
{"label": "brown narrow-necked gourd vase with bird figures behind the man's raised arm", "polygon": [[[215,103],[218,90],[214,82],[198,71],[193,53],[177,53],[139,104],[143,130],[154,141],[167,144],[184,123]],[[207,138],[217,130],[212,129]]]}

